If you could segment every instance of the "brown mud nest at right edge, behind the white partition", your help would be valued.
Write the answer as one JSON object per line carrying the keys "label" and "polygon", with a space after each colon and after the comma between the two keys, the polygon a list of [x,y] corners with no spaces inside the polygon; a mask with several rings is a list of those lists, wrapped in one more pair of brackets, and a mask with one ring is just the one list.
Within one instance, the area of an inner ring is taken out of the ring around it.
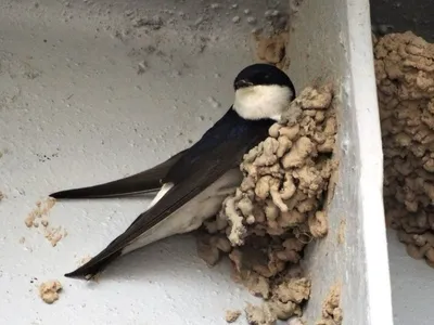
{"label": "brown mud nest at right edge, behind the white partition", "polygon": [[386,223],[434,268],[434,44],[411,31],[374,39]]}

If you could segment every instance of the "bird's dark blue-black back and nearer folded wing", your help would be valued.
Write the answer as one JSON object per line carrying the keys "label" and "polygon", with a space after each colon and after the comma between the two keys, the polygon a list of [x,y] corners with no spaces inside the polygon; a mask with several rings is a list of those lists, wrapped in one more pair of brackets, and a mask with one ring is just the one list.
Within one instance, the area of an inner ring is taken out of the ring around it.
{"label": "bird's dark blue-black back and nearer folded wing", "polygon": [[267,136],[272,120],[248,121],[233,109],[217,121],[199,142],[191,146],[163,179],[174,187],[103,251],[76,271],[71,277],[93,276],[104,269],[129,243],[179,209],[224,173],[237,167],[243,155]]}

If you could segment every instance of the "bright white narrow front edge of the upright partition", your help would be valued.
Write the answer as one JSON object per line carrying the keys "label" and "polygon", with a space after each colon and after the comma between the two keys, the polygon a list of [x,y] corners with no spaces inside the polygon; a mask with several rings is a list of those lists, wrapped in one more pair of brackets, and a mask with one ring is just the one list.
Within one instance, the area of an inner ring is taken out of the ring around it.
{"label": "bright white narrow front edge of the upright partition", "polygon": [[365,248],[366,255],[365,278],[368,288],[366,309],[370,322],[368,324],[392,325],[392,291],[383,207],[383,150],[373,68],[369,1],[348,0],[347,13],[347,47],[352,70],[348,108],[355,108],[354,117],[357,127],[355,141],[358,142],[356,146],[360,155],[357,198],[360,203],[358,217],[361,219],[363,243],[359,249]]}

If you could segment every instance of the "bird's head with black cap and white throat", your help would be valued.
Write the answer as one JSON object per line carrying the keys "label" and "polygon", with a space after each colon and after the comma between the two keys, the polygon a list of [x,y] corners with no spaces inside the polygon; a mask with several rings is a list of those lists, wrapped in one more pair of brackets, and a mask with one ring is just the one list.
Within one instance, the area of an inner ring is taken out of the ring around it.
{"label": "bird's head with black cap and white throat", "polygon": [[258,63],[245,67],[233,81],[233,109],[244,119],[279,120],[295,98],[291,79],[278,67]]}

